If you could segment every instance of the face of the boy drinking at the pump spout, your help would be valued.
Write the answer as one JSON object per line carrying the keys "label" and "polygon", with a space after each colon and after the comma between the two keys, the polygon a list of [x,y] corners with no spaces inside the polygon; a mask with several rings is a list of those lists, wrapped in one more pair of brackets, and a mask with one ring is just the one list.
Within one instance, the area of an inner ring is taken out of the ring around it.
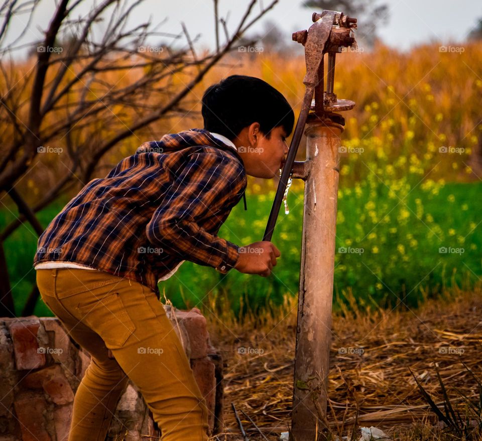
{"label": "face of the boy drinking at the pump spout", "polygon": [[260,132],[258,123],[244,128],[233,142],[243,159],[246,173],[264,179],[279,175],[289,150],[286,136],[282,126],[275,127],[269,139]]}

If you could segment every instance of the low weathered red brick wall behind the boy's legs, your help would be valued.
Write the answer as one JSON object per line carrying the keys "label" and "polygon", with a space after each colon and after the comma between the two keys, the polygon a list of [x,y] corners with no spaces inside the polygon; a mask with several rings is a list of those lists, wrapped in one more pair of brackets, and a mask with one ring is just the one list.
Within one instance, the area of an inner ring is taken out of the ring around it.
{"label": "low weathered red brick wall behind the boy's legs", "polygon": [[[197,308],[165,309],[206,399],[211,432],[221,431],[222,359],[210,344],[206,319]],[[74,394],[89,363],[57,318],[0,318],[0,441],[67,441]],[[129,382],[106,440],[152,439],[141,434],[156,437],[159,430]]]}

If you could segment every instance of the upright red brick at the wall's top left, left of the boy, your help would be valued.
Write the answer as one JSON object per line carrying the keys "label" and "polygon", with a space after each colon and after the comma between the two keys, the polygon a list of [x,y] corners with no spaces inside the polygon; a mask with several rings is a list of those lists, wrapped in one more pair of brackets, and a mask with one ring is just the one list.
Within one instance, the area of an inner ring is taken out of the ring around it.
{"label": "upright red brick at the wall's top left, left of the boy", "polygon": [[40,329],[37,317],[22,318],[10,325],[17,369],[36,369],[45,365],[45,354],[39,352]]}

